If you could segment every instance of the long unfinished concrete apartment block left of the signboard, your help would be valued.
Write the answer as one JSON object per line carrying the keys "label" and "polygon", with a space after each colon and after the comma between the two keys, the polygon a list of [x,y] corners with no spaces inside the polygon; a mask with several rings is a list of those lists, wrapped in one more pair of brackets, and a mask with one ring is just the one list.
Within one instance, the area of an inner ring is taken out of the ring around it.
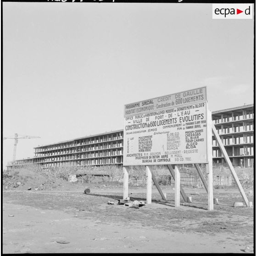
{"label": "long unfinished concrete apartment block left of the signboard", "polygon": [[67,165],[122,164],[123,130],[44,145],[35,149],[35,164]]}

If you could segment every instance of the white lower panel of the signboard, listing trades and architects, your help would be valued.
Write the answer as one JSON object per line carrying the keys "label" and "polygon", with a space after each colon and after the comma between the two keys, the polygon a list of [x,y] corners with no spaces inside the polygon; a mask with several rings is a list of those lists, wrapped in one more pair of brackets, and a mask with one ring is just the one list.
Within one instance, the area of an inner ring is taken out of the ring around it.
{"label": "white lower panel of the signboard, listing trades and architects", "polygon": [[123,166],[207,163],[206,112],[205,101],[126,116]]}

